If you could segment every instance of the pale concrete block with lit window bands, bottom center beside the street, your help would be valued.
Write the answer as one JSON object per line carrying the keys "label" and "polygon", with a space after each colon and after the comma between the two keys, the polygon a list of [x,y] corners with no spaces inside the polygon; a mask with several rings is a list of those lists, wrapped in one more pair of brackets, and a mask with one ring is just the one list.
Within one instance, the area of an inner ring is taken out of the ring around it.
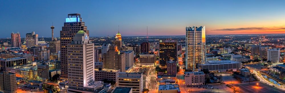
{"label": "pale concrete block with lit window bands, bottom center beside the street", "polygon": [[133,93],[142,93],[143,73],[120,72],[117,77],[117,84],[119,87],[132,87]]}

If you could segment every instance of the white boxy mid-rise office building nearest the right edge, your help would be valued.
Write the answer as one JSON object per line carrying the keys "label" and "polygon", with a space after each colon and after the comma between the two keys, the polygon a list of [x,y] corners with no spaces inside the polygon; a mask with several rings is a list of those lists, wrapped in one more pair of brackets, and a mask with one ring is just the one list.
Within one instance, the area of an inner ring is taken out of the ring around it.
{"label": "white boxy mid-rise office building nearest the right edge", "polygon": [[280,62],[280,49],[268,49],[267,50],[267,61],[272,63]]}

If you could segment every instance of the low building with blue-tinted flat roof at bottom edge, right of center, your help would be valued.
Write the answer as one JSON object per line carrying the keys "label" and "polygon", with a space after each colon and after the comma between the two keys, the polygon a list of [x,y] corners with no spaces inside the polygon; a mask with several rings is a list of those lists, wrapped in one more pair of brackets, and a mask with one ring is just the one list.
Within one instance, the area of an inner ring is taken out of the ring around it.
{"label": "low building with blue-tinted flat roof at bottom edge, right of center", "polygon": [[159,85],[158,93],[180,93],[178,84]]}

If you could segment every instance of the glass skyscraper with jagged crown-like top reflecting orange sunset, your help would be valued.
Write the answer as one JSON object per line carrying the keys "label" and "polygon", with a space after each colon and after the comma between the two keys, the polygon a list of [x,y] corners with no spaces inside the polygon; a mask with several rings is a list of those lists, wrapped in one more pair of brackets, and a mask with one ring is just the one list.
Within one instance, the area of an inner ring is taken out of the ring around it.
{"label": "glass skyscraper with jagged crown-like top reflecting orange sunset", "polygon": [[186,69],[198,71],[197,65],[206,61],[205,26],[186,27]]}

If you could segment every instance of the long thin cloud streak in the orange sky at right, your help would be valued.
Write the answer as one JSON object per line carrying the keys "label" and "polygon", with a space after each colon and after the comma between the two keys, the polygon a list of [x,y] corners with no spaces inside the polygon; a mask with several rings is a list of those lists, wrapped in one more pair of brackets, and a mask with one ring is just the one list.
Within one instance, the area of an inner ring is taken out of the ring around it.
{"label": "long thin cloud streak in the orange sky at right", "polygon": [[225,29],[215,29],[211,31],[239,31],[239,30],[282,30],[285,27],[271,27],[271,28],[264,28],[264,27],[248,27],[248,28],[225,28]]}

